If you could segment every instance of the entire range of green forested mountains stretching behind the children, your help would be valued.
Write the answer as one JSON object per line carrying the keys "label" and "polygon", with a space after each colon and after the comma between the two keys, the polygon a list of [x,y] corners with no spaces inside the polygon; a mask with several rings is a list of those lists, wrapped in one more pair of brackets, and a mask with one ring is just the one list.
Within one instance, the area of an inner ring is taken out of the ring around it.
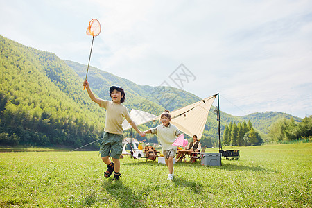
{"label": "entire range of green forested mountains stretching behind the children", "polygon": [[[101,138],[105,110],[93,103],[83,90],[86,65],[61,60],[53,53],[24,46],[1,35],[0,58],[0,144],[78,147]],[[201,100],[173,87],[137,85],[95,67],[89,67],[88,80],[96,96],[107,100],[110,100],[110,86],[122,86],[126,92],[124,105],[129,111],[135,108],[158,115],[165,109],[172,111]],[[216,145],[218,128],[214,108],[211,107],[202,138]],[[280,112],[247,116],[220,112],[220,129],[222,133],[229,122],[250,120],[254,128],[266,136],[270,124],[290,117],[293,116]],[[139,128],[146,130],[153,126],[155,123],[150,122]],[[129,135],[128,130],[125,136]],[[139,141],[142,139],[136,132],[133,136]],[[146,139],[157,142],[155,135],[148,135]],[[91,147],[97,148],[98,144]]]}

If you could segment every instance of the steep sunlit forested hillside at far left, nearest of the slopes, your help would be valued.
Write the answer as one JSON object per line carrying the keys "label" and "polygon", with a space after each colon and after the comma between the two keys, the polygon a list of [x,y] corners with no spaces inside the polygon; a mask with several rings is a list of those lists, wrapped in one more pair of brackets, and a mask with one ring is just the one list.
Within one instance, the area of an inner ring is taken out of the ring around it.
{"label": "steep sunlit forested hillside at far left, nearest of the slopes", "polygon": [[10,144],[80,146],[101,135],[103,110],[55,54],[0,36],[0,133]]}

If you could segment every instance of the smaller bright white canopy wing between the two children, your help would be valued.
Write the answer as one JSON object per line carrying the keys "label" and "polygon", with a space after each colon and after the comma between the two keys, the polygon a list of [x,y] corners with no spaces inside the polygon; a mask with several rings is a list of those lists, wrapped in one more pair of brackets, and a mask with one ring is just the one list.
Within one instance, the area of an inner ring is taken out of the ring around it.
{"label": "smaller bright white canopy wing between the two children", "polygon": [[[135,124],[137,124],[137,125],[147,123],[148,121],[153,121],[153,119],[155,119],[156,117],[157,116],[150,114],[148,112],[144,112],[141,110],[135,110],[133,108],[130,112],[130,118],[132,119],[132,121],[135,121]],[[123,130],[128,130],[130,128],[132,128],[130,123],[128,123],[127,120],[124,120],[123,121]]]}

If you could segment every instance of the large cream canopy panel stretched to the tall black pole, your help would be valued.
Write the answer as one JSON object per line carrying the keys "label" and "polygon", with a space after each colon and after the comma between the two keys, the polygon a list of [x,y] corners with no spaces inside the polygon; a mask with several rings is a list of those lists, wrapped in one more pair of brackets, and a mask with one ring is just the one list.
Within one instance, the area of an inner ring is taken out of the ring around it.
{"label": "large cream canopy panel stretched to the tall black pole", "polygon": [[[215,94],[170,112],[171,123],[190,137],[197,135],[198,139],[200,139],[205,128],[209,110],[217,95]],[[160,119],[160,116],[157,116],[154,120],[156,119]]]}

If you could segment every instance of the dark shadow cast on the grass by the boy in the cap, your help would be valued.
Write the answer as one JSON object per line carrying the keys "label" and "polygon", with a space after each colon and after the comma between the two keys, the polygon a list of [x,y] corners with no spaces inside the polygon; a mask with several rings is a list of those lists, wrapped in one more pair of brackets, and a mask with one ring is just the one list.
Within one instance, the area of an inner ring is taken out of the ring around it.
{"label": "dark shadow cast on the grass by the boy in the cap", "polygon": [[105,182],[103,188],[119,203],[121,208],[147,207],[144,196],[136,195],[132,189],[123,184],[122,180]]}

